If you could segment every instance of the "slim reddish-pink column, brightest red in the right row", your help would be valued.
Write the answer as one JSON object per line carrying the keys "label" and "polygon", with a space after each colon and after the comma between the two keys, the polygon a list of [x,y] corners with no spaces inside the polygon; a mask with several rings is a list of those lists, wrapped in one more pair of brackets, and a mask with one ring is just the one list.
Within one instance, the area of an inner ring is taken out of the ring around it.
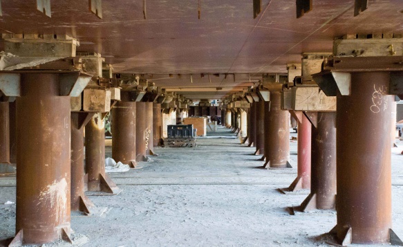
{"label": "slim reddish-pink column, brightest red in the right row", "polygon": [[[297,132],[298,174],[297,178],[291,183],[290,187],[288,187],[287,189],[290,192],[295,192],[297,190],[309,190],[311,187],[310,180],[311,180],[312,124],[302,112],[299,112],[297,114],[299,114],[301,118],[301,122],[298,122],[298,132]],[[334,156],[333,158],[336,158],[336,156]]]}

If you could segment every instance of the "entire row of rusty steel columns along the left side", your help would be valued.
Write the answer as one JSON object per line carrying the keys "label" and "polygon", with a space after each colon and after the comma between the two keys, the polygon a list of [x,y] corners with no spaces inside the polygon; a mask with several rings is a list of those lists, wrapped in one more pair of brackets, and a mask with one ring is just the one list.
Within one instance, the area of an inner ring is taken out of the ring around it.
{"label": "entire row of rusty steel columns along the left side", "polygon": [[[90,213],[94,206],[84,192],[119,191],[105,173],[104,113],[71,112],[57,73],[23,73],[20,85],[15,102],[0,102],[0,163],[16,163],[18,171],[10,246],[71,241],[71,210]],[[116,161],[134,167],[160,143],[161,105],[126,96],[112,110],[112,152]]]}

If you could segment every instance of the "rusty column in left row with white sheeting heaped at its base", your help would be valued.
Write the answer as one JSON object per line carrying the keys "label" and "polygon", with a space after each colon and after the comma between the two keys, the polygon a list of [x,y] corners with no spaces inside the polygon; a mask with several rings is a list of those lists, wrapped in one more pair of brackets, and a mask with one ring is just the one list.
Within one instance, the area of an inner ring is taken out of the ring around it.
{"label": "rusty column in left row with white sheeting heaped at its base", "polygon": [[121,93],[122,101],[112,109],[112,158],[134,168],[136,103],[127,101],[125,94]]}

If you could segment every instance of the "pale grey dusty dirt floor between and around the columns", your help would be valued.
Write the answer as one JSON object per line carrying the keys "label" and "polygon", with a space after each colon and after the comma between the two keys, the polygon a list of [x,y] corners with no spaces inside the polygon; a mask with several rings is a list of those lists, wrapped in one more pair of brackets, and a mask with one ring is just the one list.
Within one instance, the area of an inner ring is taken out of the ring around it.
{"label": "pale grey dusty dirt floor between and around the columns", "polygon": [[[156,148],[159,156],[141,169],[110,174],[123,191],[90,196],[104,212],[72,215],[73,230],[90,239],[85,246],[328,246],[323,234],[335,226],[336,212],[292,216],[286,208],[308,194],[276,190],[296,177],[297,141],[290,143],[294,168],[264,170],[253,147],[218,130],[214,135],[226,138],[199,138],[196,148]],[[403,237],[403,142],[397,145],[393,230]],[[106,151],[111,156],[111,148]],[[15,202],[14,177],[0,177],[0,239],[15,234],[15,204],[6,201]]]}

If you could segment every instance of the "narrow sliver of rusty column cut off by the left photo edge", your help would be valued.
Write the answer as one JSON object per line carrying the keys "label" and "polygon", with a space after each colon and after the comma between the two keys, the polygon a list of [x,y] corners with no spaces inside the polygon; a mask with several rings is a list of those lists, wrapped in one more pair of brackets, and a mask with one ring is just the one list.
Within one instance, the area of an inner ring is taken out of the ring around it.
{"label": "narrow sliver of rusty column cut off by the left photo edge", "polygon": [[0,163],[10,163],[9,103],[0,102]]}

